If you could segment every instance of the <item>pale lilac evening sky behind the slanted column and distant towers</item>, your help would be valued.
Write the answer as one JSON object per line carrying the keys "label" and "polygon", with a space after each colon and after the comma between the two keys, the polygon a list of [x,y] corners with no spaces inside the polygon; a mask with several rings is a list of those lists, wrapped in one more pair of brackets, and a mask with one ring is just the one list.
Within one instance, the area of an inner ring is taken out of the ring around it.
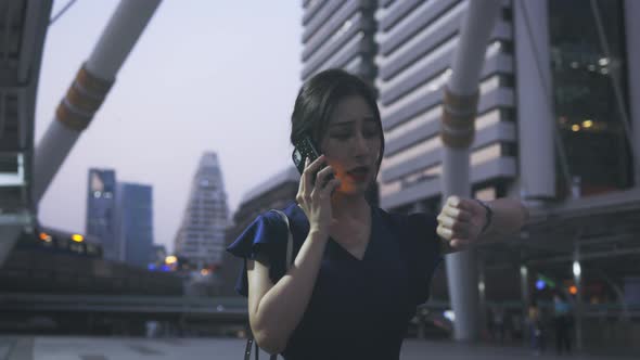
{"label": "pale lilac evening sky behind the slanted column and distant towers", "polygon": [[[52,14],[67,3],[56,0]],[[36,144],[117,0],[78,0],[50,27]],[[290,165],[300,86],[299,1],[165,0],[39,205],[44,226],[85,231],[87,171],[153,185],[154,241],[172,248],[200,156],[215,151],[230,210]]]}

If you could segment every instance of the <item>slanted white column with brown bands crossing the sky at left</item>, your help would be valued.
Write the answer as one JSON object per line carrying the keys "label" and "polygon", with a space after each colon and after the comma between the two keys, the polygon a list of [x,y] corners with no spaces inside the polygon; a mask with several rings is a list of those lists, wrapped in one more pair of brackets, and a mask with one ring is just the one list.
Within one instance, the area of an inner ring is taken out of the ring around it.
{"label": "slanted white column with brown bands crossing the sky at left", "polygon": [[117,72],[158,5],[159,0],[123,0],[112,15],[35,150],[36,204],[102,105]]}

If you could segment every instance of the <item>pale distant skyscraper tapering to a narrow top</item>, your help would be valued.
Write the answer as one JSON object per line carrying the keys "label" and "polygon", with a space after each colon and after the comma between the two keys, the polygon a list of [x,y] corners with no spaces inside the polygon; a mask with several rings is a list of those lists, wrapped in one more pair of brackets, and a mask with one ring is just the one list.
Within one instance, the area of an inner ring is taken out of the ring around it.
{"label": "pale distant skyscraper tapering to a narrow top", "polygon": [[225,252],[229,209],[216,153],[203,154],[191,184],[175,249],[199,268],[219,266]]}

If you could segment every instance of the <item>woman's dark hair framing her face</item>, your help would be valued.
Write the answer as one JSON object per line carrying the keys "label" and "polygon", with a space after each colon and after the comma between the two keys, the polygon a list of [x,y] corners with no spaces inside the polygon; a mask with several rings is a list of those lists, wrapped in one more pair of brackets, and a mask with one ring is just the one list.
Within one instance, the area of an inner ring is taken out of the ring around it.
{"label": "woman's dark hair framing her face", "polygon": [[337,103],[353,95],[362,97],[373,111],[380,133],[380,156],[377,158],[377,171],[380,171],[384,154],[384,133],[375,101],[375,90],[359,77],[340,68],[330,68],[318,73],[303,83],[291,115],[291,143],[293,144],[309,134],[313,142],[320,145],[321,138],[329,128],[330,117]]}

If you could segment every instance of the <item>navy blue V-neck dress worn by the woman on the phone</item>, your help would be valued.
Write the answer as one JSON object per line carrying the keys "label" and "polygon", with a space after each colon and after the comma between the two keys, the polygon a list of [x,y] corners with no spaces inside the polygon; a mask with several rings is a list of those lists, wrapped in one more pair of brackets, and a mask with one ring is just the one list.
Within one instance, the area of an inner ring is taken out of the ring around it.
{"label": "navy blue V-neck dress worn by the woman on the phone", "polygon": [[[302,208],[289,217],[297,255],[309,231]],[[371,237],[361,260],[329,240],[313,293],[282,352],[297,359],[398,359],[415,307],[426,301],[431,278],[441,261],[436,218],[431,214],[392,215],[371,207]],[[255,259],[265,254],[276,283],[286,269],[286,224],[274,211],[258,216],[228,247]],[[236,291],[247,295],[246,260]]]}

